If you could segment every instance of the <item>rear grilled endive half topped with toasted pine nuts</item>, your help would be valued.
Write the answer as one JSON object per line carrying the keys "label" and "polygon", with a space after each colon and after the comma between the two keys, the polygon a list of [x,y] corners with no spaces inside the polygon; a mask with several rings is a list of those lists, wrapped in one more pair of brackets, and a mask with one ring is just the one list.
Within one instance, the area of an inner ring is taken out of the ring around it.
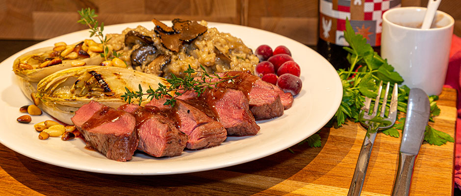
{"label": "rear grilled endive half topped with toasted pine nuts", "polygon": [[[54,58],[60,59],[61,63],[40,68],[41,63]],[[28,81],[38,82],[51,73],[71,68],[71,63],[76,60],[83,61],[86,63],[86,65],[99,65],[104,60],[104,58],[102,58],[100,55],[88,57],[79,54],[76,59],[66,59],[65,57],[60,56],[59,52],[53,51],[53,47],[46,47],[41,49],[34,49],[19,56],[14,60],[13,71],[16,73],[16,75]],[[20,66],[21,64],[27,64],[28,66]]]}

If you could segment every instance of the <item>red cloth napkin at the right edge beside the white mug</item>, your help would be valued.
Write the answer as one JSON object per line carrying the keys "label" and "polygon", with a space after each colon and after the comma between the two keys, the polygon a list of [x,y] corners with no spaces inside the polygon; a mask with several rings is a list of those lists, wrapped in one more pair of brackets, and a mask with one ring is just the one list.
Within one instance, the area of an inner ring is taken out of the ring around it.
{"label": "red cloth napkin at the right edge beside the white mug", "polygon": [[445,87],[454,88],[458,91],[456,108],[458,119],[456,120],[456,147],[455,147],[455,187],[461,187],[461,38],[453,35],[450,61],[448,63]]}

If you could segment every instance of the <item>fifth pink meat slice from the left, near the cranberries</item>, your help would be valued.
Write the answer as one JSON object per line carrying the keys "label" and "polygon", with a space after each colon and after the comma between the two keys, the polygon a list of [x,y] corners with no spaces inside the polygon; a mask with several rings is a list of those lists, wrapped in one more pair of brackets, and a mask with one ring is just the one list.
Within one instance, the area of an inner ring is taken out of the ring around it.
{"label": "fifth pink meat slice from the left, near the cranberries", "polygon": [[250,111],[256,120],[272,119],[283,115],[280,95],[270,83],[246,72],[220,73],[222,77],[225,75],[237,77],[233,82],[223,82],[217,86],[242,91],[248,98]]}

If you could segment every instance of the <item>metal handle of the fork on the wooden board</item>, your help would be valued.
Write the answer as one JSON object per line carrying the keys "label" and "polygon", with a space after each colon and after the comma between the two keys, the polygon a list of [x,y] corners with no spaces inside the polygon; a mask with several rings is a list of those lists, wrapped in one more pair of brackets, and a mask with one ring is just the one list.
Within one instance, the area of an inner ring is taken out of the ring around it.
{"label": "metal handle of the fork on the wooden board", "polygon": [[356,170],[352,177],[351,186],[347,196],[359,196],[362,192],[363,182],[365,181],[366,169],[370,161],[371,150],[375,141],[377,132],[370,133],[370,137],[365,136],[362,148],[360,149],[359,159],[357,159]]}

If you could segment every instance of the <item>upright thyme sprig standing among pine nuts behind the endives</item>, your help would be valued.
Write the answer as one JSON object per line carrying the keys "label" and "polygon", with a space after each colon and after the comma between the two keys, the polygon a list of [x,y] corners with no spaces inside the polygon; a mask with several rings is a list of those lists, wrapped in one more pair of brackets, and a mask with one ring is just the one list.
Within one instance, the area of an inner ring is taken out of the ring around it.
{"label": "upright thyme sprig standing among pine nuts behind the endives", "polygon": [[[107,60],[109,57],[109,48],[107,48],[107,42],[110,40],[110,38],[107,38],[107,36],[104,36],[102,34],[102,31],[104,30],[104,23],[102,22],[99,24],[99,22],[95,19],[98,17],[97,14],[95,14],[95,10],[91,8],[86,8],[86,9],[81,9],[81,11],[77,11],[78,14],[80,14],[80,20],[77,21],[77,23],[83,24],[83,25],[88,25],[90,28],[90,37],[93,37],[96,35],[98,37],[99,41],[101,41],[102,44],[102,53],[101,57]],[[117,52],[114,51],[114,54]]]}

